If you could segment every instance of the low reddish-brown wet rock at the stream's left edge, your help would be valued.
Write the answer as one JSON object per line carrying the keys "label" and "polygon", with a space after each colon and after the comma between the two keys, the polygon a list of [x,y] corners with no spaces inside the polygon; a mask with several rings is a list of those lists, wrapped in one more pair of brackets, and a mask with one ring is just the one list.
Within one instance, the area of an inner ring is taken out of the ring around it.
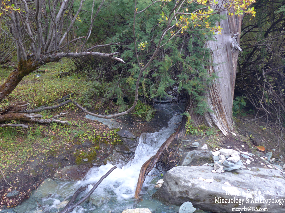
{"label": "low reddish-brown wet rock at the stream's left edge", "polygon": [[91,167],[92,164],[89,163],[80,166],[66,166],[59,168],[53,177],[61,180],[81,180]]}

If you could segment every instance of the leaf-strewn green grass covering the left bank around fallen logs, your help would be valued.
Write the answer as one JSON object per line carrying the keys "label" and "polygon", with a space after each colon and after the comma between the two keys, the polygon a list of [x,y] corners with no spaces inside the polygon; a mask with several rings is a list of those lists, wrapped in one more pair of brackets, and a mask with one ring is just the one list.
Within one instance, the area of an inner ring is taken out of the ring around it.
{"label": "leaf-strewn green grass covering the left bank around fallen logs", "polygon": [[[60,73],[74,69],[71,60],[61,60],[61,62],[43,65],[38,69],[42,70],[41,72],[30,73],[24,77],[17,88],[0,102],[0,109],[20,101],[29,102],[28,108],[30,109],[42,105],[51,106],[54,105],[52,102],[56,99],[70,93],[74,93],[75,97],[80,97],[87,89],[87,79],[75,74],[60,78]],[[0,69],[0,84],[6,81],[10,72],[11,70]],[[36,77],[36,74],[41,74],[41,76]],[[49,118],[66,111],[69,113],[62,120],[70,121],[71,125],[29,123],[28,129],[0,127],[0,168],[2,171],[7,175],[16,168],[22,169],[23,163],[41,158],[41,156],[52,155],[56,159],[63,151],[71,149],[75,144],[81,147],[73,153],[76,163],[80,163],[83,158],[96,157],[96,151],[101,149],[100,144],[106,144],[107,147],[119,142],[114,130],[109,130],[96,121],[84,120],[84,114],[78,114],[72,104],[55,111],[42,111],[39,114]],[[91,141],[92,146],[83,149],[80,144],[86,140]]]}

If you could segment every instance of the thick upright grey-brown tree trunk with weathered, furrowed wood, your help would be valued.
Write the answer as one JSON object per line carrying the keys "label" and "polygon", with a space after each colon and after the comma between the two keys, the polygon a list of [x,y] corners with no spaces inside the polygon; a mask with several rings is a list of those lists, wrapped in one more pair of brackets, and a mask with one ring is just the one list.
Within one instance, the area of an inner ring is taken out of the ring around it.
{"label": "thick upright grey-brown tree trunk with weathered, furrowed wood", "polygon": [[[227,16],[227,12],[220,12],[220,16]],[[240,17],[234,15],[228,16],[226,20],[221,20],[217,26],[223,28],[222,34],[214,35],[214,40],[206,42],[206,48],[209,48],[212,54],[211,64],[218,64],[209,66],[209,75],[215,73],[218,78],[204,94],[210,109],[214,113],[206,112],[204,116],[196,115],[193,110],[194,105],[189,110],[195,125],[201,123],[206,123],[210,127],[216,125],[224,135],[233,131],[233,92],[239,50],[232,49],[231,37],[235,33],[240,33],[242,18],[243,15]],[[239,37],[237,42],[239,43]]]}

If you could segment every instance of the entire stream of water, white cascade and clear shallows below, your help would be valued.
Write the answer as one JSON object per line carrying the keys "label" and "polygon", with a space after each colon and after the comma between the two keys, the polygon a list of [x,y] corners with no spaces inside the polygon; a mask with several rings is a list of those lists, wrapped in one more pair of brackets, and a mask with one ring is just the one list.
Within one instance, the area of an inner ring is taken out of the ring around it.
{"label": "entire stream of water, white cascade and clear shallows below", "polygon": [[[169,105],[164,105],[170,112]],[[122,212],[131,208],[149,208],[152,212],[175,212],[177,207],[165,206],[159,201],[153,200],[150,196],[157,190],[155,182],[162,178],[159,171],[153,169],[150,177],[146,177],[141,191],[141,200],[134,198],[136,184],[140,168],[151,156],[153,156],[165,140],[174,132],[181,116],[174,115],[168,122],[168,127],[162,128],[155,133],[142,133],[139,144],[135,151],[134,159],[126,165],[117,164],[116,168],[101,184],[86,202],[81,204],[73,212]],[[114,166],[109,162],[100,167],[91,168],[85,178],[80,181],[59,181],[46,179],[42,191],[32,192],[31,198],[22,202],[13,210],[15,212],[58,212],[70,199],[70,196],[81,186],[88,185],[86,195],[93,185]],[[150,175],[150,174],[149,174]],[[156,176],[155,176],[156,175]],[[45,190],[46,189],[46,190]],[[67,198],[66,200],[64,200]]]}

